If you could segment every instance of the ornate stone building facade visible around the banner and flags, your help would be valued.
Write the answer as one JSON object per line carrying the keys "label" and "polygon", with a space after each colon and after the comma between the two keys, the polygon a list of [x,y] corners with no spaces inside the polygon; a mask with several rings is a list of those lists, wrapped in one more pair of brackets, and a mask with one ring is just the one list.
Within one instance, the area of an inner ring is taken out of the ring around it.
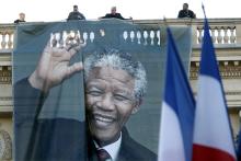
{"label": "ornate stone building facade visible around the banner and flags", "polygon": [[[203,19],[170,19],[134,21],[137,24],[188,25],[193,31],[190,82],[194,94],[197,88],[199,55],[203,38]],[[241,124],[241,19],[209,20],[220,74],[222,77],[228,112],[231,118],[233,138]],[[14,24],[0,24],[0,160],[12,160],[13,147],[13,99],[12,99],[12,50],[14,44]]]}

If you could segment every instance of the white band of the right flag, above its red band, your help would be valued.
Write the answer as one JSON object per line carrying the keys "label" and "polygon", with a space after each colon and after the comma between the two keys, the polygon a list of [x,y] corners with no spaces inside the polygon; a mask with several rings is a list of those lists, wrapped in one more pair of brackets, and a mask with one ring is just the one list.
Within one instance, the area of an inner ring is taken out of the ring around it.
{"label": "white band of the right flag, above its red band", "polygon": [[213,147],[234,156],[230,126],[220,82],[199,76],[194,143]]}

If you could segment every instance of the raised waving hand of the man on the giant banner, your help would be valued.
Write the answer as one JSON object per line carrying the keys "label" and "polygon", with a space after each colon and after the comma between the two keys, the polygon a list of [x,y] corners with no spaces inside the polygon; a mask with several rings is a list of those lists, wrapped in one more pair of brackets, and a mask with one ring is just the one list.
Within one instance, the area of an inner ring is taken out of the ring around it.
{"label": "raised waving hand of the man on the giant banner", "polygon": [[[71,43],[72,39],[74,39],[74,43]],[[31,85],[48,92],[50,88],[82,70],[82,62],[69,65],[69,61],[84,45],[78,36],[68,37],[67,44],[58,47],[56,42],[49,41],[44,48],[35,71],[28,78]]]}

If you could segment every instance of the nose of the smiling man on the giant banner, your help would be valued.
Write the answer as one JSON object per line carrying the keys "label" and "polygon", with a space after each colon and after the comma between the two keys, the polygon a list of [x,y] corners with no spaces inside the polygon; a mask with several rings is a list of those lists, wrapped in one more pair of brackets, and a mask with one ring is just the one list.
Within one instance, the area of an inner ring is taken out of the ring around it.
{"label": "nose of the smiling man on the giant banner", "polygon": [[99,102],[99,107],[104,111],[113,111],[115,108],[115,103],[111,93],[105,93],[101,101]]}

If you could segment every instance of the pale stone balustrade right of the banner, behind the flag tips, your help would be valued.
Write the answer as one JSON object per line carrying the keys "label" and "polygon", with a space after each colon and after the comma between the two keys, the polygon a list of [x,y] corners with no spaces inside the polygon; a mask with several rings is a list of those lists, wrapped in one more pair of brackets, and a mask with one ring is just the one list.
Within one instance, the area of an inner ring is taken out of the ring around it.
{"label": "pale stone balustrade right of the banner, behind the flag tips", "polygon": [[[241,19],[209,19],[210,34],[214,44],[241,44]],[[140,20],[134,21],[134,23],[147,24],[147,25],[187,25],[193,28],[193,45],[194,47],[202,43],[204,33],[204,20],[203,19],[167,19],[163,20]],[[228,47],[228,46],[227,46]]]}

